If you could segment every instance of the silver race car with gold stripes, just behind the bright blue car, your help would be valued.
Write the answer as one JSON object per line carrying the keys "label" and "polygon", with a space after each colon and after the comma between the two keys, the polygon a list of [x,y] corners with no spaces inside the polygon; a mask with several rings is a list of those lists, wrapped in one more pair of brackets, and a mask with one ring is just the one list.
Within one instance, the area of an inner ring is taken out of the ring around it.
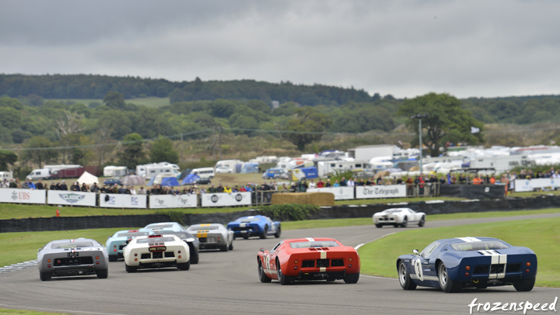
{"label": "silver race car with gold stripes, just behind the bright blue car", "polygon": [[200,241],[200,249],[220,249],[231,251],[233,249],[233,231],[228,230],[223,224],[195,224],[186,231],[196,235]]}

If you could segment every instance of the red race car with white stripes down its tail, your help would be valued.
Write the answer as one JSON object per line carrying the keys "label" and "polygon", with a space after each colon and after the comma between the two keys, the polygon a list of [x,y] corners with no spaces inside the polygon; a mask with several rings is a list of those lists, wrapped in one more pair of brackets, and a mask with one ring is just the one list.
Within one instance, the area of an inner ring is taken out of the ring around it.
{"label": "red race car with white stripes down its tail", "polygon": [[355,284],[360,279],[360,256],[353,247],[332,238],[293,238],[274,248],[258,251],[258,277],[261,282],[343,279]]}

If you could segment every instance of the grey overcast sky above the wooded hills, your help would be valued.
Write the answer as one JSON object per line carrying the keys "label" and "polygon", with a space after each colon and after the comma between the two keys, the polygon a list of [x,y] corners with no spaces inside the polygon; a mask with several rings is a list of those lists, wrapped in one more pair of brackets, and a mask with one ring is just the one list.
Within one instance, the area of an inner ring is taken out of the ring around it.
{"label": "grey overcast sky above the wooded hills", "polygon": [[560,94],[559,14],[556,0],[0,0],[0,72]]}

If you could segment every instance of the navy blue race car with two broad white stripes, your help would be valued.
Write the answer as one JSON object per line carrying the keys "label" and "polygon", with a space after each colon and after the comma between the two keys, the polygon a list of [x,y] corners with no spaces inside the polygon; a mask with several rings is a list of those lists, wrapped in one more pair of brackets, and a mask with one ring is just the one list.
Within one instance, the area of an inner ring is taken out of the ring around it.
{"label": "navy blue race car with two broad white stripes", "polygon": [[461,288],[513,285],[517,291],[531,291],[537,276],[537,256],[526,247],[516,247],[493,237],[456,237],[437,240],[420,253],[397,259],[400,286]]}

